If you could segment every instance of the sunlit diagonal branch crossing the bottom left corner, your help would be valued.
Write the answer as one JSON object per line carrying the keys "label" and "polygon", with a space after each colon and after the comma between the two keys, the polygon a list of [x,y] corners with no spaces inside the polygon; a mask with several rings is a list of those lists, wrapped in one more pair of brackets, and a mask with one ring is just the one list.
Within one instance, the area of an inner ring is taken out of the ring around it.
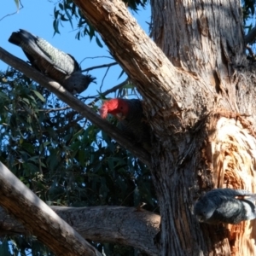
{"label": "sunlit diagonal branch crossing the bottom left corner", "polygon": [[[82,236],[0,162],[0,204],[55,255],[100,256]],[[18,199],[18,200],[17,200]]]}

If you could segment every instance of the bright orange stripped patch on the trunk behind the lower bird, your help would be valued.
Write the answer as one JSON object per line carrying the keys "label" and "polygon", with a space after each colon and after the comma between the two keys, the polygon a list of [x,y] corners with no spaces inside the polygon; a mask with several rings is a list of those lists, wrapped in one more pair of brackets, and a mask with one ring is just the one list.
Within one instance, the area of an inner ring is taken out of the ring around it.
{"label": "bright orange stripped patch on the trunk behind the lower bird", "polygon": [[[206,145],[202,161],[207,170],[197,172],[201,191],[214,188],[246,189],[256,191],[256,136],[253,125],[236,113],[212,113],[207,119]],[[201,225],[206,227],[206,225]],[[256,255],[252,238],[256,237],[256,220],[240,224],[224,224],[224,237],[228,238],[231,255]],[[251,246],[247,246],[251,244]],[[218,255],[218,253],[216,253]]]}

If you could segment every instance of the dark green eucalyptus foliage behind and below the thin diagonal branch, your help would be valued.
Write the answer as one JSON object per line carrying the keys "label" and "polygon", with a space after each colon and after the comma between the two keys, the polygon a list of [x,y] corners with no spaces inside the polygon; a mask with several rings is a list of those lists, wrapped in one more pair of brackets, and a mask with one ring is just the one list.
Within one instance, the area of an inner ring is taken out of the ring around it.
{"label": "dark green eucalyptus foliage behind and below the thin diagonal branch", "polygon": [[[146,202],[148,210],[156,209],[148,168],[48,90],[9,68],[0,73],[0,98],[0,160],[43,201],[72,207]],[[20,239],[28,251],[48,255],[23,236],[3,238],[0,250],[15,241],[21,252]]]}

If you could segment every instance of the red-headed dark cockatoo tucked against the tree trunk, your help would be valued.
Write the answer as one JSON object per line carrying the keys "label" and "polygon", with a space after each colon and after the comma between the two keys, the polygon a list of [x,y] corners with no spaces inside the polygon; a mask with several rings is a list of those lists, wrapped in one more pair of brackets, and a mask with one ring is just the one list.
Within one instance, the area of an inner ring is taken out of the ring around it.
{"label": "red-headed dark cockatoo tucked against the tree trunk", "polygon": [[131,137],[134,143],[139,143],[148,152],[151,150],[150,128],[145,121],[142,102],[138,99],[114,98],[102,104],[100,113],[106,119],[111,113],[119,120],[118,127],[124,135]]}

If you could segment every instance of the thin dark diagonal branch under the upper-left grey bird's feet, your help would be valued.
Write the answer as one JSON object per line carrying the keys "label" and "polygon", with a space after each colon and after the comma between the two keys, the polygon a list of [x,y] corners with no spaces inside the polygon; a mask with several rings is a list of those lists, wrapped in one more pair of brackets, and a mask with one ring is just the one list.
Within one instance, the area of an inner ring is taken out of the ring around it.
{"label": "thin dark diagonal branch under the upper-left grey bird's feet", "polygon": [[51,92],[55,93],[62,102],[66,102],[71,108],[79,112],[85,118],[89,119],[93,124],[97,125],[100,129],[105,131],[110,137],[113,137],[119,144],[128,149],[131,154],[143,161],[144,164],[150,166],[150,156],[143,148],[139,148],[122,135],[118,128],[109,124],[108,121],[102,119],[98,114],[92,111],[84,102],[79,101],[78,98],[71,95],[65,90],[61,84],[53,81],[44,76],[43,73],[39,73],[35,68],[29,66],[25,61],[21,61],[14,55],[9,54],[6,50],[0,47],[0,60],[14,67],[20,72],[26,74],[27,77],[35,80],[38,84],[41,84]]}

